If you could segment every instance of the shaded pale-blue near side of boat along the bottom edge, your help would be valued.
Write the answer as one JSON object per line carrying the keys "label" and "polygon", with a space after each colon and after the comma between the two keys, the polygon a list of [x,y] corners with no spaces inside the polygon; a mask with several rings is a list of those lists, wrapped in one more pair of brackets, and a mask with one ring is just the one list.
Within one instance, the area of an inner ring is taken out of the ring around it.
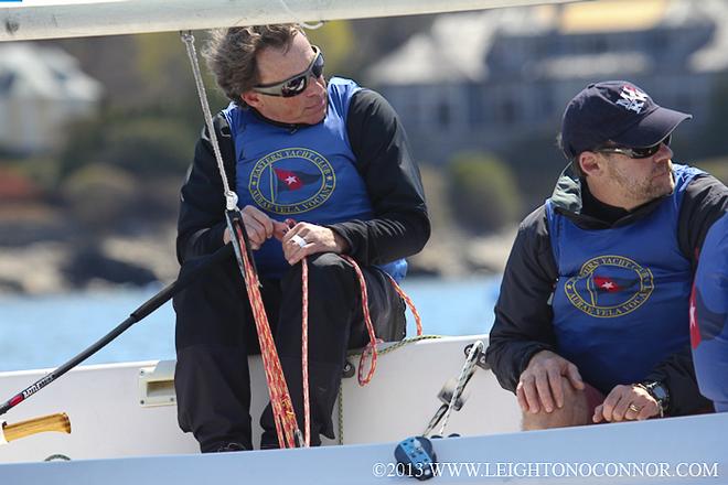
{"label": "shaded pale-blue near side of boat along the bottom edge", "polygon": [[[727,429],[728,413],[724,413],[436,440],[440,463],[451,465],[442,466],[432,483],[725,484]],[[394,448],[395,443],[381,443],[8,464],[0,465],[0,476],[2,483],[13,485],[416,483],[397,472]],[[640,466],[641,463],[647,466]],[[628,468],[633,470],[629,475],[619,476],[620,464],[635,467]],[[569,476],[571,465],[586,475]],[[527,472],[528,466],[534,472]],[[607,473],[614,476],[606,476]]]}

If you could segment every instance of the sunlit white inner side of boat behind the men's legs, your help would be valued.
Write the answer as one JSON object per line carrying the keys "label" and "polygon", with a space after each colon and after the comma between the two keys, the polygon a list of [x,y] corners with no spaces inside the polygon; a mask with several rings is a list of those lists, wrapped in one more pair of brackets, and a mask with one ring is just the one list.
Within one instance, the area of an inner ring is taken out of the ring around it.
{"label": "sunlit white inner side of boat behind the men's legs", "polygon": [[[464,348],[474,340],[447,337],[408,344],[379,356],[368,386],[360,387],[355,377],[344,379],[344,443],[399,441],[420,434],[441,403],[437,399],[439,390],[449,378],[459,375]],[[251,358],[250,367],[251,416],[257,425],[268,396],[260,358]],[[43,461],[55,454],[88,460],[197,452],[194,439],[182,433],[176,423],[172,371],[172,362],[72,370],[3,417],[18,422],[66,412],[72,433],[43,433],[14,441],[0,448],[0,462]],[[0,374],[0,395],[13,396],[44,374],[45,370]],[[461,411],[452,413],[447,433],[481,435],[518,429],[515,398],[501,389],[492,373],[479,368],[467,392],[470,399]],[[254,443],[259,433],[256,429]]]}

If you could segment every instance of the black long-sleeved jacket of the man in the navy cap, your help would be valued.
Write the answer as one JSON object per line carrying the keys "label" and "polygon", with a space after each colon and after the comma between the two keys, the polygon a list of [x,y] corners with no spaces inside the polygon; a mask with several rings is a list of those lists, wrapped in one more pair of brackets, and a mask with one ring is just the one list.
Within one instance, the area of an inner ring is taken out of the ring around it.
{"label": "black long-sleeved jacket of the man in the navy cap", "polygon": [[[561,214],[588,229],[631,224],[662,202],[659,198],[632,212],[607,206],[593,198],[586,183],[568,171],[559,179],[552,200]],[[692,261],[694,271],[708,229],[727,211],[728,188],[715,177],[700,175],[687,186],[677,223],[677,238],[681,251]],[[546,209],[540,206],[518,228],[495,305],[495,323],[486,358],[504,389],[515,391],[521,374],[534,354],[545,349],[558,354],[549,303],[557,278]],[[699,395],[689,347],[660,363],[645,380],[665,382],[671,392],[671,414],[695,412],[709,405]]]}

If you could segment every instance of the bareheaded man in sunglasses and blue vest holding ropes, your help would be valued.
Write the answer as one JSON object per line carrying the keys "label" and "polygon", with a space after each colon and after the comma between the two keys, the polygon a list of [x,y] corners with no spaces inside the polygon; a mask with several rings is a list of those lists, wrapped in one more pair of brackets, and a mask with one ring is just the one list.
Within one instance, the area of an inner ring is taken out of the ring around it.
{"label": "bareheaded man in sunglasses and blue vest holding ropes", "polygon": [[[375,333],[405,336],[405,257],[430,225],[418,168],[389,104],[354,82],[323,77],[322,51],[295,25],[215,32],[205,55],[231,105],[216,118],[227,177],[239,197],[263,297],[299,427],[303,429],[301,265],[308,260],[311,441],[334,438],[331,413],[349,348],[368,343],[364,273]],[[207,133],[182,188],[182,271],[229,241]],[[179,422],[203,452],[251,450],[247,356],[257,352],[234,261],[174,300]],[[261,448],[278,448],[270,405]]]}

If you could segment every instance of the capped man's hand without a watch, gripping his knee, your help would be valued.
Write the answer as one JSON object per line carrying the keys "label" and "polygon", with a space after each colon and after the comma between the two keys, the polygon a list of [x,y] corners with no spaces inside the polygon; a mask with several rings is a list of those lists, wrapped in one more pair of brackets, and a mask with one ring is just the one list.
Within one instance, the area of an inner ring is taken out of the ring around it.
{"label": "capped man's hand without a watch, gripping his knee", "polygon": [[555,407],[564,407],[563,377],[575,389],[584,389],[577,366],[550,351],[534,354],[516,387],[516,398],[523,412],[537,413],[542,407],[546,412],[552,412]]}

